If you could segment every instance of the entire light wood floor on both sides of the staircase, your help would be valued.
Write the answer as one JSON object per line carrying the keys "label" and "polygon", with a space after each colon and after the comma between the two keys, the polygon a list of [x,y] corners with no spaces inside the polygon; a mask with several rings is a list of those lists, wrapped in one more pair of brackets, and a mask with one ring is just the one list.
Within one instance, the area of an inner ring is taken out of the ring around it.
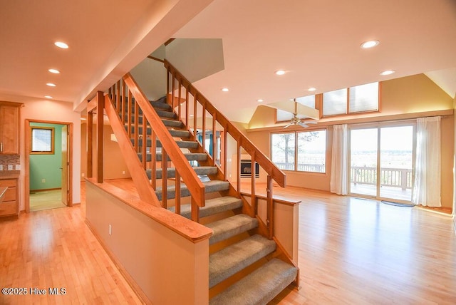
{"label": "entire light wood floor on both sides of the staircase", "polygon": [[[451,217],[294,187],[274,193],[302,200],[302,288],[271,304],[456,304]],[[138,303],[83,222],[84,210],[82,202],[0,223],[1,287],[67,289],[33,299],[0,295],[0,304]]]}

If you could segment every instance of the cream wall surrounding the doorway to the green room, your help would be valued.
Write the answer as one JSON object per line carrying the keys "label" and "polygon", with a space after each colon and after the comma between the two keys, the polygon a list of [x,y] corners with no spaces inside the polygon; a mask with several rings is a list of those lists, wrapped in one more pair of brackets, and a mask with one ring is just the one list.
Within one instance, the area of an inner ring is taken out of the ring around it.
{"label": "cream wall surrounding the doorway to the green room", "polygon": [[73,203],[81,202],[81,115],[73,111],[73,103],[33,99],[23,101],[21,108],[21,175],[19,177],[20,210],[25,209],[25,120],[48,120],[73,123]]}

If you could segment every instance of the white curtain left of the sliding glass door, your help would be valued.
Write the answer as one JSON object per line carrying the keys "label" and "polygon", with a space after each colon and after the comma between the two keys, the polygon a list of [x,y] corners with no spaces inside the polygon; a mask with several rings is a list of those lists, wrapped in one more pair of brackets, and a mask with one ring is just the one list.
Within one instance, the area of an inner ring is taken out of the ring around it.
{"label": "white curtain left of the sliding glass door", "polygon": [[333,154],[331,156],[331,192],[347,195],[347,124],[333,126]]}

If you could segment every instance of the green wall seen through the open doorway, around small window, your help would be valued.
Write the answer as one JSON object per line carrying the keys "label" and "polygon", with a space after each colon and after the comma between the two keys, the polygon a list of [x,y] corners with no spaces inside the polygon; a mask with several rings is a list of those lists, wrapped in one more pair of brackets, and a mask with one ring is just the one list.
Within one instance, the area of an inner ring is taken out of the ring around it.
{"label": "green wall seen through the open doorway, around small window", "polygon": [[[53,155],[30,155],[30,190],[49,190],[62,187],[62,128],[63,125],[30,123],[31,126],[54,129]],[[42,180],[46,182],[42,182]]]}

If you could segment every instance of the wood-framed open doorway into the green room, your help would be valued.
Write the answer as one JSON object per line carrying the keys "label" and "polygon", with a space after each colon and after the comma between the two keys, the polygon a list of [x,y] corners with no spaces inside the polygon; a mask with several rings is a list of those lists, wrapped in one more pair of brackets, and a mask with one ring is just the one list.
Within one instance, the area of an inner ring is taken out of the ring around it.
{"label": "wood-framed open doorway into the green room", "polygon": [[26,120],[25,210],[71,207],[73,123]]}

